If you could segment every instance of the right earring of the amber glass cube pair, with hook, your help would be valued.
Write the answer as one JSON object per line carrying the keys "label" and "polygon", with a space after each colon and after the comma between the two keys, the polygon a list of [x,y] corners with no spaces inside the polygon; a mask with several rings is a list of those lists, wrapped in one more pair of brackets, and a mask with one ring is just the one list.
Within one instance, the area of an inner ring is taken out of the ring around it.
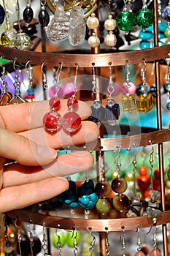
{"label": "right earring of the amber glass cube pair, with hook", "polygon": [[144,59],[142,60],[142,66],[143,65],[144,65],[144,67],[141,68],[141,78],[142,78],[142,86],[143,86],[144,94],[141,94],[137,98],[137,109],[139,110],[139,112],[147,113],[150,110],[152,110],[153,99],[152,99],[152,95],[147,94],[147,91],[146,91],[147,83],[146,83],[146,78],[145,78],[145,71],[146,71],[147,66],[146,66]]}

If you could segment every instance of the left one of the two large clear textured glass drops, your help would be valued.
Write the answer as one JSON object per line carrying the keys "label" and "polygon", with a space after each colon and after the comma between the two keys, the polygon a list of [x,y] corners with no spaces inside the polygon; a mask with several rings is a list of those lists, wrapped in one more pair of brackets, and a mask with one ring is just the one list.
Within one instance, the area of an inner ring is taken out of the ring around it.
{"label": "left one of the two large clear textured glass drops", "polygon": [[66,15],[63,6],[57,4],[54,18],[47,26],[47,37],[53,42],[61,42],[69,37],[69,16]]}

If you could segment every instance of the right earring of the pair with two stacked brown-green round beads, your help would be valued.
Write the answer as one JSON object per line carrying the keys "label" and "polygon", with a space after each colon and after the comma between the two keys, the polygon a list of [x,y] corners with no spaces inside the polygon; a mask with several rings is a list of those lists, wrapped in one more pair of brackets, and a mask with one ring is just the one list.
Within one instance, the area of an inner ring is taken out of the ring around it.
{"label": "right earring of the pair with two stacked brown-green round beads", "polygon": [[[119,146],[117,146],[119,148]],[[117,177],[112,180],[112,190],[115,193],[118,193],[113,197],[113,206],[117,211],[124,211],[128,208],[128,197],[123,194],[128,187],[127,181],[125,178],[122,178],[120,175],[120,149],[118,150],[118,157],[117,157]]]}

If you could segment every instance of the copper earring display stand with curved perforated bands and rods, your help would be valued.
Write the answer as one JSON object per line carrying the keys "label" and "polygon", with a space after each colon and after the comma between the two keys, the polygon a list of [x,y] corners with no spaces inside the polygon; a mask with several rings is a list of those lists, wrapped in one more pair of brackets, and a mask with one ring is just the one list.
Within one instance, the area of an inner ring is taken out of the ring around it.
{"label": "copper earring display stand with curved perforated bands and rods", "polygon": [[[16,49],[9,49],[0,46],[0,53],[3,54],[5,59],[17,59],[20,63],[27,63],[30,60],[31,65],[41,65],[45,62],[46,66],[58,67],[58,64],[62,63],[63,67],[75,67],[78,64],[79,67],[109,67],[110,65],[123,66],[125,61],[128,60],[128,64],[139,64],[142,59],[147,62],[155,63],[155,86],[157,89],[156,108],[157,108],[157,124],[158,129],[154,132],[142,133],[140,135],[128,135],[121,138],[98,138],[96,148],[91,148],[90,144],[86,146],[85,150],[95,150],[96,157],[99,158],[99,151],[113,151],[117,149],[133,148],[150,146],[158,144],[159,155],[159,170],[161,174],[161,210],[162,214],[157,217],[157,225],[162,225],[163,233],[163,255],[168,256],[167,250],[167,229],[166,224],[169,223],[170,211],[166,211],[165,200],[165,185],[164,185],[164,167],[163,167],[163,143],[170,140],[169,129],[162,129],[161,121],[161,85],[160,85],[160,61],[169,57],[170,45],[158,47],[158,13],[157,13],[157,0],[154,1],[154,15],[155,15],[155,47],[147,50],[132,50],[123,51],[117,53],[100,53],[100,50],[96,48],[93,53],[90,54],[75,54],[75,53],[42,53],[31,52]],[[98,180],[101,176],[98,174]],[[100,255],[106,255],[105,239],[107,236],[107,230],[110,231],[122,231],[122,227],[125,230],[136,230],[136,227],[140,224],[140,228],[152,227],[154,224],[152,218],[144,217],[132,217],[132,218],[118,218],[118,219],[84,219],[77,217],[56,217],[42,213],[36,213],[34,211],[28,211],[27,209],[20,209],[10,211],[7,213],[9,217],[13,219],[19,219],[22,222],[31,222],[35,225],[43,225],[46,227],[58,227],[61,229],[96,231],[100,234]]]}

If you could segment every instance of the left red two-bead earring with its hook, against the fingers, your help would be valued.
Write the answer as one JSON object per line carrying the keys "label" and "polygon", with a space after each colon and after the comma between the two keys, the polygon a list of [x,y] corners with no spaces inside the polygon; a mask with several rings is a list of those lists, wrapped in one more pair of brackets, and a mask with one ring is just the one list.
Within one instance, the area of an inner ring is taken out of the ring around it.
{"label": "left red two-bead earring with its hook, against the fingers", "polygon": [[[43,73],[43,86],[47,89],[47,77],[45,72],[43,72],[45,62],[42,64],[42,73]],[[63,119],[61,115],[57,112],[57,110],[61,107],[61,100],[58,99],[58,84],[60,80],[60,74],[62,69],[62,64],[59,67],[59,74],[58,74],[58,83],[56,83],[56,93],[53,98],[49,100],[50,111],[45,114],[43,117],[43,124],[45,129],[48,132],[57,132],[58,129],[62,127]]]}

